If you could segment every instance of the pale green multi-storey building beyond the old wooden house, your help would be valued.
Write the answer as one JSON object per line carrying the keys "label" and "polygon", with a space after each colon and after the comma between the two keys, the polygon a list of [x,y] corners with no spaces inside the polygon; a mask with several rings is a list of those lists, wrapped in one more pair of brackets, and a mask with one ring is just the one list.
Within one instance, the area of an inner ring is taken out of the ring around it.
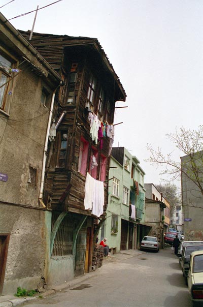
{"label": "pale green multi-storey building beyond the old wooden house", "polygon": [[145,234],[145,172],[136,156],[124,147],[113,147],[109,171],[107,217],[100,238],[107,237],[110,248],[137,249]]}

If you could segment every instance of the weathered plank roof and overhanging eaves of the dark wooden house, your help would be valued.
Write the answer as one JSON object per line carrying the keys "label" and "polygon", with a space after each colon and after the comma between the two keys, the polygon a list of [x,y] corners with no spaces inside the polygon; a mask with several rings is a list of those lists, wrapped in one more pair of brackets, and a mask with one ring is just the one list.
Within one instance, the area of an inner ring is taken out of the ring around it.
{"label": "weathered plank roof and overhanging eaves of the dark wooden house", "polygon": [[[19,32],[27,40],[29,39],[30,31],[24,32],[19,30]],[[119,93],[116,97],[117,101],[126,100],[126,93],[119,77],[96,38],[33,33],[32,40],[29,42],[55,70],[61,68],[63,55],[67,50],[69,50],[68,52],[72,52],[71,50],[74,51],[77,47],[78,52],[91,53],[93,64],[100,68],[99,73],[102,71],[106,72],[111,77],[112,84],[117,86],[117,93]]]}

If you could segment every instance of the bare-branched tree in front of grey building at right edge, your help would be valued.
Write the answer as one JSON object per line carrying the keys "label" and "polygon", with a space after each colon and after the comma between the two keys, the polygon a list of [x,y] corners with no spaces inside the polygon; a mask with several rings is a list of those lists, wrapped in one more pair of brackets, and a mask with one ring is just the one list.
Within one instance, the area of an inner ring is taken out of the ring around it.
{"label": "bare-branched tree in front of grey building at right edge", "polygon": [[172,180],[180,178],[181,175],[191,180],[195,190],[203,195],[203,126],[199,126],[198,130],[187,130],[182,127],[180,131],[176,130],[176,133],[166,136],[183,153],[183,156],[187,156],[187,159],[183,159],[181,164],[181,161],[172,159],[172,152],[164,156],[160,147],[154,150],[151,144],[148,144],[147,148],[151,156],[145,161],[164,165],[165,169],[160,174],[170,174]]}

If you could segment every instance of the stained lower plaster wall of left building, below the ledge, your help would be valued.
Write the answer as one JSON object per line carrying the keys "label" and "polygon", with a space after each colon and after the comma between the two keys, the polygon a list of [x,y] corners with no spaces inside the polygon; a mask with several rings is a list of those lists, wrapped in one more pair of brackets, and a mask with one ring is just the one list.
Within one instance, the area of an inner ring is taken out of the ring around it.
{"label": "stained lower plaster wall of left building, below the ledge", "polygon": [[3,295],[37,289],[44,276],[45,211],[0,202],[0,233],[10,233]]}

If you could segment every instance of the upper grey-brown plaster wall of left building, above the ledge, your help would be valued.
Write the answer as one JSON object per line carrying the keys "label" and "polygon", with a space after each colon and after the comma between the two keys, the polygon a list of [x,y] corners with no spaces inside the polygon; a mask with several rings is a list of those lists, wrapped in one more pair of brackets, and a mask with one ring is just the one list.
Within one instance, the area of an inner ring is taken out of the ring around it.
{"label": "upper grey-brown plaster wall of left building, above the ledge", "polygon": [[[10,116],[4,120],[7,125],[0,126],[4,135],[0,171],[8,175],[7,182],[0,181],[1,200],[36,206],[49,109],[41,103],[42,79],[25,64],[20,68],[12,88]],[[28,182],[30,166],[38,171],[35,183]]]}

